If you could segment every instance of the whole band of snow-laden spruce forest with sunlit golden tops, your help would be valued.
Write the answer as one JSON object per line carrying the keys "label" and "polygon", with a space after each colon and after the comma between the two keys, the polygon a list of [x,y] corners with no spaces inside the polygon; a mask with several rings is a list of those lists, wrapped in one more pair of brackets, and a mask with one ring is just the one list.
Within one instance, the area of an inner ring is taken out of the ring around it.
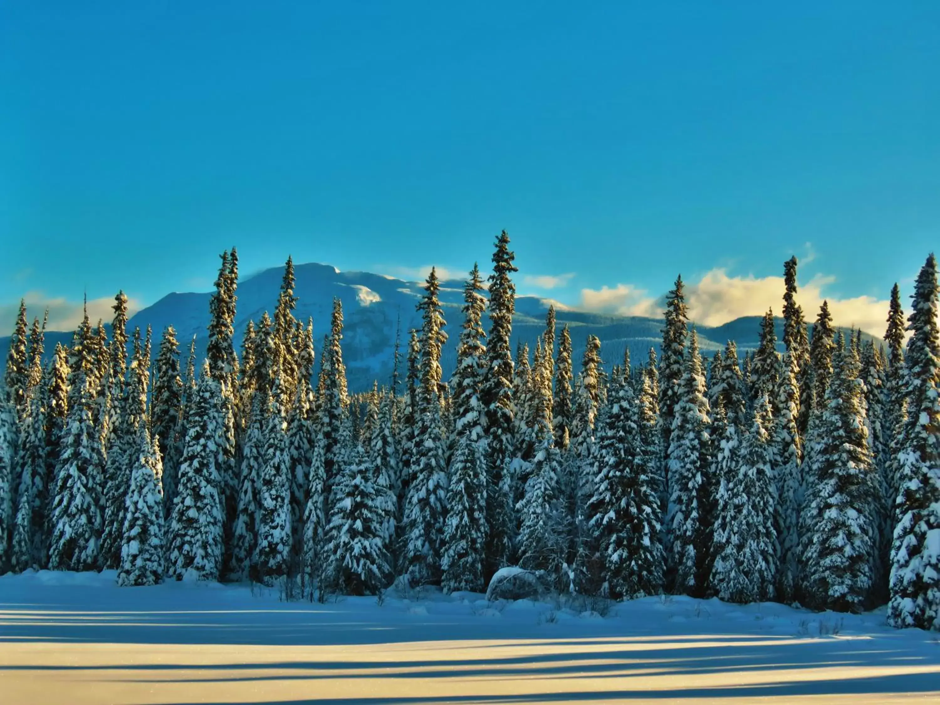
{"label": "whole band of snow-laden spruce forest with sunlit golden tops", "polygon": [[504,231],[445,321],[431,270],[392,378],[354,394],[342,306],[318,346],[294,317],[290,258],[238,351],[234,248],[205,351],[180,350],[172,326],[129,331],[119,292],[109,330],[86,315],[46,352],[21,305],[0,395],[0,572],[290,582],[315,600],[395,582],[480,592],[511,567],[557,593],[887,603],[894,626],[940,630],[933,255],[906,318],[892,290],[884,345],[840,332],[825,303],[809,322],[791,258],[784,352],[768,311],[756,350],[729,340],[703,358],[679,277],[659,351],[609,371],[597,337],[572,359],[554,309],[511,350],[516,272]]}

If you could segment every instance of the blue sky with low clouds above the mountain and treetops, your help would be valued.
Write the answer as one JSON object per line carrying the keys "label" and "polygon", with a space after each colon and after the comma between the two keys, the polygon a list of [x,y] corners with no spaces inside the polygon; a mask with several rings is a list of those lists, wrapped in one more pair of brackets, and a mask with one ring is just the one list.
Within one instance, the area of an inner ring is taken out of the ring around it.
{"label": "blue sky with low clouds above the mountain and treetops", "polygon": [[682,272],[716,321],[795,253],[862,321],[940,243],[930,0],[0,13],[0,323],[206,290],[231,244],[245,274],[462,273],[504,227],[520,290],[568,305]]}

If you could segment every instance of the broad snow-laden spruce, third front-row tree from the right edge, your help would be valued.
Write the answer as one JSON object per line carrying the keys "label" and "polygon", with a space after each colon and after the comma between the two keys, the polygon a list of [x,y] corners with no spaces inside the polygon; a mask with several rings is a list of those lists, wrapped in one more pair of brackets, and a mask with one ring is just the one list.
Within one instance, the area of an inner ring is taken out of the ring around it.
{"label": "broad snow-laden spruce, third front-row tree from the right edge", "polygon": [[737,472],[718,493],[714,540],[721,550],[714,560],[712,588],[731,603],[764,602],[775,594],[776,488],[765,429],[771,418],[770,400],[761,395],[751,428],[743,434]]}

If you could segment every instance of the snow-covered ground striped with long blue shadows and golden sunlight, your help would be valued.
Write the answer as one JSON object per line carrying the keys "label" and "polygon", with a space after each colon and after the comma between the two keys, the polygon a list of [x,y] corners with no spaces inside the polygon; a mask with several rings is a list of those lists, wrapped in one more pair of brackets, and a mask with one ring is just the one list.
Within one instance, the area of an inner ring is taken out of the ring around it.
{"label": "snow-covered ground striped with long blue shadows and golden sunlight", "polygon": [[[579,605],[585,607],[588,605]],[[671,597],[601,617],[482,596],[319,604],[114,572],[0,577],[0,702],[940,701],[940,637],[881,612]]]}

